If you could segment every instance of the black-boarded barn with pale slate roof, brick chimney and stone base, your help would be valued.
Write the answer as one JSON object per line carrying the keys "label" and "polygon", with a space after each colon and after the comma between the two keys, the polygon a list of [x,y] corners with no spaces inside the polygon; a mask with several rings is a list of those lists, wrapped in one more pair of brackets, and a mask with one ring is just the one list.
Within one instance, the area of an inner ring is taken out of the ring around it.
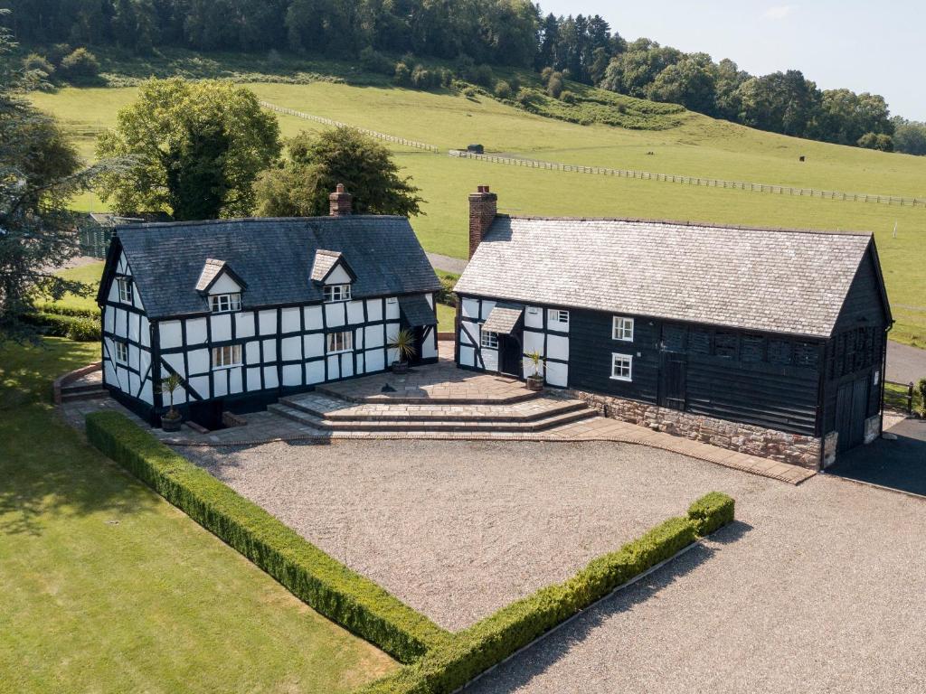
{"label": "black-boarded barn with pale slate roof, brick chimney and stone base", "polygon": [[870,234],[508,217],[469,196],[457,363],[811,468],[881,433],[892,324]]}

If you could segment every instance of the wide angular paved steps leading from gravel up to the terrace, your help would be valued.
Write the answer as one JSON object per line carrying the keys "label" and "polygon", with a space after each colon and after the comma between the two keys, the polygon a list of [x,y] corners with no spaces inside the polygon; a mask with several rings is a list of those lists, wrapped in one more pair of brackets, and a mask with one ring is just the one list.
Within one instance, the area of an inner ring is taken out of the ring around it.
{"label": "wide angular paved steps leading from gravel up to the terrace", "polygon": [[348,403],[307,393],[271,404],[269,412],[320,431],[530,433],[591,419],[597,413],[579,400],[532,393],[515,403]]}

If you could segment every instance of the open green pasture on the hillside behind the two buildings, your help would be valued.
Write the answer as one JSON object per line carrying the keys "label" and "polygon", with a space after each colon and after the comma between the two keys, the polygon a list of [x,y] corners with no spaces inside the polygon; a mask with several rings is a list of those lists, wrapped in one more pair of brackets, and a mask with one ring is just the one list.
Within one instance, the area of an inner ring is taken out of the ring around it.
{"label": "open green pasture on the hillside behind the two buildings", "polygon": [[[311,64],[314,73],[324,66]],[[332,68],[351,83],[251,82],[277,105],[395,135],[442,149],[482,143],[488,152],[566,163],[727,180],[745,180],[845,192],[926,197],[926,158],[889,155],[750,130],[693,113],[672,116],[665,130],[583,126],[525,113],[484,95],[425,93],[365,81],[349,68]],[[235,72],[237,79],[246,73]],[[281,78],[282,79],[282,78]],[[360,83],[357,83],[360,82]],[[61,118],[93,155],[96,132],[112,124],[134,89],[63,89],[38,93],[36,105]],[[318,126],[281,116],[285,135]],[[876,233],[898,325],[895,339],[926,345],[926,209],[847,203],[785,195],[625,180],[457,160],[396,146],[396,159],[421,188],[425,216],[413,220],[429,251],[466,253],[467,193],[487,183],[503,211],[535,215],[660,217],[735,224],[861,229]],[[804,155],[801,163],[798,157]],[[102,205],[90,197],[77,204]],[[892,230],[895,222],[897,238]]]}

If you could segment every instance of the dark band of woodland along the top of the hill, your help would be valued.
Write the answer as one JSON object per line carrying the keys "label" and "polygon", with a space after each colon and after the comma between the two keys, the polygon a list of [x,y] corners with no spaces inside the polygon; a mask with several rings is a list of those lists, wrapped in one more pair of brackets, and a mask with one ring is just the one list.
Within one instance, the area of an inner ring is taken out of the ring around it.
{"label": "dark band of woodland along the top of the hill", "polygon": [[[730,59],[683,53],[649,39],[627,42],[605,19],[544,16],[530,0],[7,0],[6,19],[26,43],[157,46],[301,54],[379,54],[534,68],[715,118],[823,142],[924,154],[926,127],[891,118],[878,94],[820,90],[800,70],[750,75]],[[18,10],[18,11],[17,11]],[[441,83],[437,71],[409,85]],[[394,63],[391,64],[394,66]],[[392,68],[390,68],[392,69]],[[423,70],[424,68],[422,68]],[[383,70],[385,71],[385,70]],[[545,79],[545,78],[544,78]],[[561,88],[555,92],[566,92]]]}

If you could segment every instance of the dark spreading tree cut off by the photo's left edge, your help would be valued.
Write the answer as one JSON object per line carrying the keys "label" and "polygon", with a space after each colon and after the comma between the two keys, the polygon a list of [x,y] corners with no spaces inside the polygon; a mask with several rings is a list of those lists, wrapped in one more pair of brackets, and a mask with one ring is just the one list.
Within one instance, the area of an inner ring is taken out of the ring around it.
{"label": "dark spreading tree cut off by the photo's left edge", "polygon": [[23,98],[34,75],[12,68],[13,46],[0,28],[0,341],[31,333],[19,316],[30,309],[38,289],[53,298],[85,291],[50,268],[77,252],[75,219],[67,204],[100,168],[81,167],[56,122]]}

